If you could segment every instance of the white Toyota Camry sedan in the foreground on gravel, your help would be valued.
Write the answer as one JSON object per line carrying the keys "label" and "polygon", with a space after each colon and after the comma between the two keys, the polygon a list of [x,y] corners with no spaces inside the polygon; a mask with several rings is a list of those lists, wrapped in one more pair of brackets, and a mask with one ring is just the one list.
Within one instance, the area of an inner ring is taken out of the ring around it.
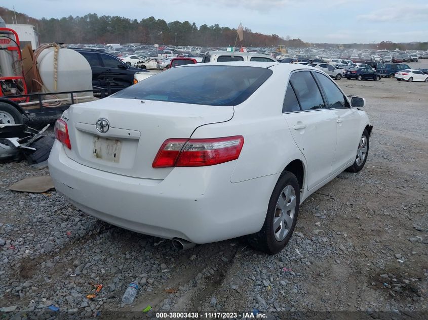
{"label": "white Toyota Camry sedan in the foreground on gravel", "polygon": [[274,254],[309,195],[364,167],[364,105],[309,66],[180,66],[72,105],[49,170],[77,208],[177,249],[247,235]]}

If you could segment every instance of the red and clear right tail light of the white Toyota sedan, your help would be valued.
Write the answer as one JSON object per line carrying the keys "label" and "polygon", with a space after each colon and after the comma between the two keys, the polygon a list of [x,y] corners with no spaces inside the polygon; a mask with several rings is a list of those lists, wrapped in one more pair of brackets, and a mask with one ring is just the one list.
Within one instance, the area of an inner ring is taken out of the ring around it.
{"label": "red and clear right tail light of the white Toyota sedan", "polygon": [[199,167],[239,158],[242,135],[213,139],[168,139],[154,158],[153,168]]}

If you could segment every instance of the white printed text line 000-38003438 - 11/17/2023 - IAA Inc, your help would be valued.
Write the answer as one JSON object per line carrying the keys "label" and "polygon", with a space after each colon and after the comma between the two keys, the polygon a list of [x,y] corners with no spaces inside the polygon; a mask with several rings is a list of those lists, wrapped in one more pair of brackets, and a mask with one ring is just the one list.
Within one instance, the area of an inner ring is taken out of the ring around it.
{"label": "white printed text line 000-38003438 - 11/17/2023 - IAA Inc", "polygon": [[253,312],[157,312],[156,317],[159,319],[168,318],[204,318],[204,319],[229,319],[229,318],[266,318],[267,314],[258,310]]}

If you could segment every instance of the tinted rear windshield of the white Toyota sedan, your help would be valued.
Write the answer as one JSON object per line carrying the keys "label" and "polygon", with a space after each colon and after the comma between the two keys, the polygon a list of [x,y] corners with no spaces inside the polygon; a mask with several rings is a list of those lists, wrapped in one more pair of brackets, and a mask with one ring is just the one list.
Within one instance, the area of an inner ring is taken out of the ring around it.
{"label": "tinted rear windshield of the white Toyota sedan", "polygon": [[235,106],[247,100],[272,73],[270,69],[245,66],[177,67],[112,97]]}

